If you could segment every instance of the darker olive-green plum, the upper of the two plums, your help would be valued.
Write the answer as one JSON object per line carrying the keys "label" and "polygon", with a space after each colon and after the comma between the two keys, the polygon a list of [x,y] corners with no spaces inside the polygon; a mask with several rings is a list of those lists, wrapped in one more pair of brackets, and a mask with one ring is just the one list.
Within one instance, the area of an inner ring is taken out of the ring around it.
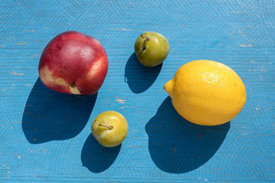
{"label": "darker olive-green plum, the upper of the two plums", "polygon": [[145,32],[135,41],[135,55],[144,66],[162,64],[169,52],[168,40],[157,32]]}

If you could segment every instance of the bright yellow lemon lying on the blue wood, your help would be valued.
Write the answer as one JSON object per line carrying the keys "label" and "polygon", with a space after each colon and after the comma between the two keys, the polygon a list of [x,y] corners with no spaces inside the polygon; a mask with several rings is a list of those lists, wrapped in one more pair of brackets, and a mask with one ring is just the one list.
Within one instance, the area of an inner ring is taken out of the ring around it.
{"label": "bright yellow lemon lying on the blue wood", "polygon": [[230,67],[211,60],[181,66],[164,85],[175,110],[192,123],[220,125],[241,112],[245,86]]}

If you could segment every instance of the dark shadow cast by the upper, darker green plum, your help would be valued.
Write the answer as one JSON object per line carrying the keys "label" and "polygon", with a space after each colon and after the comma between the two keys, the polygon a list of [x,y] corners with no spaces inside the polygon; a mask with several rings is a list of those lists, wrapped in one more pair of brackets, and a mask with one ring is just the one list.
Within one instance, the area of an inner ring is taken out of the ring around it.
{"label": "dark shadow cast by the upper, darker green plum", "polygon": [[133,53],[125,66],[124,82],[133,93],[142,93],[155,82],[161,69],[162,64],[153,67],[143,66]]}

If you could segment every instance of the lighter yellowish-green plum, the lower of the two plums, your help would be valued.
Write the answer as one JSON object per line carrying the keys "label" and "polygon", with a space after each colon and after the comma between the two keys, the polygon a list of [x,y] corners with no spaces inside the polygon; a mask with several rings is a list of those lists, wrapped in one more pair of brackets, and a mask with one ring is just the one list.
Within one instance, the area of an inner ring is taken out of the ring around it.
{"label": "lighter yellowish-green plum, the lower of the two plums", "polygon": [[91,133],[104,147],[115,147],[126,138],[128,123],[119,112],[105,111],[94,119]]}

